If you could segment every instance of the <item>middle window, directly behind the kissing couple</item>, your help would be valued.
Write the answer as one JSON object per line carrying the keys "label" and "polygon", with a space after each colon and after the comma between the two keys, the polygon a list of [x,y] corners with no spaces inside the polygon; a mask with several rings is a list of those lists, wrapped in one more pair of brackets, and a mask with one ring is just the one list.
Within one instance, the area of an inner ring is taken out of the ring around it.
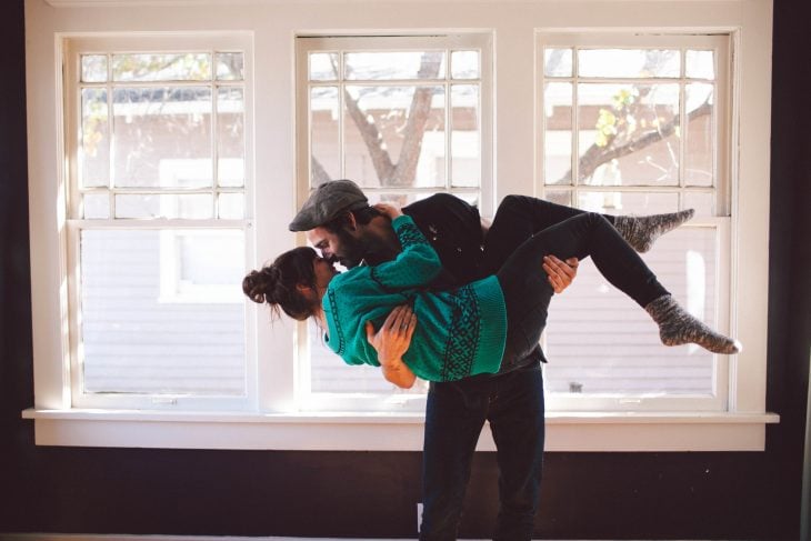
{"label": "middle window, directly behind the kissing couple", "polygon": [[[448,192],[489,204],[489,42],[487,34],[298,38],[300,202],[311,188],[349,178],[372,202]],[[423,409],[425,382],[400,390],[373,367],[343,364],[314,324],[301,335],[309,335],[304,408]]]}

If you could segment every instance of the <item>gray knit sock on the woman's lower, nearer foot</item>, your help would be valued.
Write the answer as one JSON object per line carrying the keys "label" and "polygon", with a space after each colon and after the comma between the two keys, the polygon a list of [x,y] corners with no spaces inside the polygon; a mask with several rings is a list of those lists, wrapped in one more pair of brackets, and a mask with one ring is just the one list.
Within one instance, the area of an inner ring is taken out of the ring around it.
{"label": "gray knit sock on the woman's lower, nearer foot", "polygon": [[659,337],[664,345],[697,343],[713,353],[730,355],[743,345],[738,340],[719,334],[681,308],[672,295],[662,295],[644,307],[659,324]]}

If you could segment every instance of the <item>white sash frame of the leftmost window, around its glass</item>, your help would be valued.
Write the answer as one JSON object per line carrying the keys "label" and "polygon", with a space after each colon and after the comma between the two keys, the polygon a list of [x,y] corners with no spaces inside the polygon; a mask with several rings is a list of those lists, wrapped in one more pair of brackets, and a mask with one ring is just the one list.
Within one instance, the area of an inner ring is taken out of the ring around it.
{"label": "white sash frame of the leftmost window, around its glass", "polygon": [[[68,191],[67,204],[66,204],[66,220],[64,220],[64,240],[67,266],[61,269],[63,272],[62,280],[68,284],[68,313],[67,313],[67,339],[66,344],[69,358],[69,371],[70,371],[70,403],[72,408],[102,408],[102,409],[126,409],[137,408],[146,410],[166,410],[166,409],[178,409],[178,410],[203,410],[203,411],[229,411],[229,410],[246,410],[248,408],[254,408],[257,403],[257,372],[253,350],[250,347],[251,341],[246,341],[246,384],[244,392],[238,395],[204,395],[204,394],[184,394],[184,393],[168,393],[168,394],[151,394],[151,393],[90,393],[84,392],[82,385],[82,331],[81,331],[81,314],[79,313],[81,307],[81,275],[80,275],[80,244],[81,244],[81,232],[92,230],[124,230],[124,231],[143,231],[143,230],[159,230],[160,237],[160,290],[161,297],[158,299],[159,302],[189,302],[189,295],[183,294],[179,289],[180,282],[178,280],[178,269],[176,268],[178,261],[176,256],[178,253],[178,237],[182,234],[189,234],[193,231],[244,231],[246,238],[246,252],[251,253],[253,244],[250,241],[248,229],[250,227],[249,220],[227,220],[227,219],[179,219],[179,218],[157,218],[153,220],[138,220],[138,219],[116,219],[112,214],[114,213],[114,194],[116,190],[107,190],[110,199],[110,213],[108,219],[84,219],[81,214],[81,201],[82,197],[79,190],[79,148],[81,137],[81,97],[78,93],[81,68],[80,59],[82,54],[104,54],[104,53],[117,53],[117,52],[207,52],[211,54],[211,59],[214,59],[214,51],[242,51],[248,66],[251,66],[251,42],[246,34],[144,34],[139,37],[133,36],[64,36],[58,39],[58,48],[60,49],[60,57],[62,58],[63,66],[63,96],[64,96],[64,114],[62,121],[64,122],[64,148],[67,150],[67,163],[66,170],[63,171],[64,179],[63,183]],[[212,68],[213,69],[213,68]],[[108,66],[108,79],[111,68]],[[246,73],[246,80],[243,84],[244,89],[244,102],[246,102],[246,148],[250,148],[250,130],[251,126],[249,118],[252,114],[251,100],[252,96],[250,92],[250,72]],[[211,84],[206,81],[202,84]],[[109,84],[99,83],[99,84]],[[163,82],[156,82],[156,84],[171,84]],[[200,84],[193,82],[193,84]],[[217,100],[216,90],[217,87],[212,87],[212,100]],[[112,119],[112,111],[108,112],[108,117]],[[216,121],[212,119],[212,121]],[[112,120],[109,120],[111,123]],[[112,133],[112,132],[111,132]],[[214,138],[214,132],[211,137]],[[213,143],[212,143],[213,144]],[[246,160],[249,160],[248,151],[246,151]],[[246,168],[246,187],[243,190],[246,197],[246,207],[250,201],[249,193],[251,187],[251,179],[248,172],[250,168]],[[214,177],[214,184],[210,189],[203,191],[212,193],[213,209],[217,209],[217,196],[220,192],[220,188],[217,186],[217,178]],[[143,190],[149,191],[149,190]],[[182,191],[178,190],[178,191]],[[168,260],[172,260],[168,262]],[[199,288],[200,289],[200,288]],[[218,288],[210,287],[207,292],[210,294],[213,302],[233,302],[233,298],[228,298],[228,291],[230,288]],[[167,295],[168,291],[171,294]],[[240,297],[237,298],[238,302],[242,302],[241,291]],[[246,317],[246,323],[248,318]]]}

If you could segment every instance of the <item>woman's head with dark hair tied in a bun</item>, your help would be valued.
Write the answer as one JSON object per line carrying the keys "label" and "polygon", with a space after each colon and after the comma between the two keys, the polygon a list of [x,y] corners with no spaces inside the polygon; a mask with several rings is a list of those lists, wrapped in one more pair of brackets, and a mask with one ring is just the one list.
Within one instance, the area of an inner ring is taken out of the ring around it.
{"label": "woman's head with dark hair tied in a bun", "polygon": [[267,302],[276,315],[281,309],[294,320],[303,321],[321,305],[313,267],[317,258],[316,250],[309,247],[287,251],[273,263],[244,277],[242,291],[253,302]]}

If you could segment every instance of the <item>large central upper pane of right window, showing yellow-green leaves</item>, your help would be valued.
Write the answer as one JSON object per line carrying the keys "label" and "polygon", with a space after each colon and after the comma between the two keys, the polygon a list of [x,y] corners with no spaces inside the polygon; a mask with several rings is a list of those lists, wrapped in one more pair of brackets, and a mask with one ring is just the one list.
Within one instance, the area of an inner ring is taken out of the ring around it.
{"label": "large central upper pane of right window, showing yellow-green leaves", "polygon": [[594,186],[679,182],[679,84],[578,86],[580,180]]}

